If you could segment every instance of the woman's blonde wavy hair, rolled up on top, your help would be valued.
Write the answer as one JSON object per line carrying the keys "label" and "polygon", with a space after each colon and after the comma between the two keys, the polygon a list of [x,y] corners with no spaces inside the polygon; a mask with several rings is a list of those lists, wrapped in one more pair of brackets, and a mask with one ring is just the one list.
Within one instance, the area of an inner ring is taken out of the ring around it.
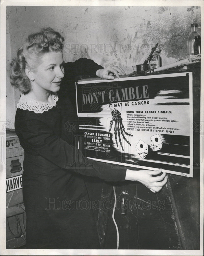
{"label": "woman's blonde wavy hair, rolled up on top", "polygon": [[52,28],[43,28],[39,33],[27,37],[12,60],[10,67],[10,83],[23,93],[31,90],[30,80],[25,68],[35,70],[44,54],[62,52],[64,38]]}

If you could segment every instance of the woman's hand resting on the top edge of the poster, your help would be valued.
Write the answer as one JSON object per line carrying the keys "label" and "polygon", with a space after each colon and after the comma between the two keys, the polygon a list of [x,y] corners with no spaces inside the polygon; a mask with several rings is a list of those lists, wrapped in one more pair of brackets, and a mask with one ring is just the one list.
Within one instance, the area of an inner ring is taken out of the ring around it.
{"label": "woman's hand resting on the top edge of the poster", "polygon": [[124,76],[126,73],[124,70],[122,70],[122,68],[114,67],[114,66],[108,66],[104,69],[98,69],[96,71],[96,76],[100,77],[101,79],[108,79],[108,80],[114,79],[113,74],[115,74],[117,78],[120,78],[119,74]]}

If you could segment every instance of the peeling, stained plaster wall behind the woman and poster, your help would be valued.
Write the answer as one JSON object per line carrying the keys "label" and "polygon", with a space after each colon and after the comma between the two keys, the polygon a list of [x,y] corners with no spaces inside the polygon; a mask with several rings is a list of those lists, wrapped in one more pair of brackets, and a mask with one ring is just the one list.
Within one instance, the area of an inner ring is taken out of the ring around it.
{"label": "peeling, stained plaster wall behind the woman and poster", "polygon": [[162,66],[185,58],[193,22],[200,32],[200,7],[7,6],[12,58],[28,34],[52,27],[66,39],[66,62],[91,58],[126,73],[136,71],[156,43]]}

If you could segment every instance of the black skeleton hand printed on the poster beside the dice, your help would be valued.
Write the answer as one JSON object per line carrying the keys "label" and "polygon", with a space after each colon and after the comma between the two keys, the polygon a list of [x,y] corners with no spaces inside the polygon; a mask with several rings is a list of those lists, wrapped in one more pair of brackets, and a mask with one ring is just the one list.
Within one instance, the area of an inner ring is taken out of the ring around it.
{"label": "black skeleton hand printed on the poster beside the dice", "polygon": [[[122,146],[122,143],[121,143],[121,138],[120,138],[120,133],[122,134],[124,140],[131,146],[130,142],[127,141],[127,139],[125,138],[124,136],[124,133],[128,136],[133,136],[132,134],[129,134],[125,131],[125,128],[124,128],[124,125],[123,125],[123,119],[121,117],[121,113],[120,111],[118,111],[117,109],[112,109],[111,111],[111,114],[113,116],[112,120],[110,121],[110,128],[109,128],[109,132],[112,128],[112,124],[113,122],[115,121],[115,126],[114,126],[114,134],[115,134],[115,140],[116,140],[116,145],[118,147],[118,140],[117,140],[117,135],[118,135],[118,139],[119,139],[119,142],[120,142],[120,145],[122,147],[122,150],[124,151],[123,149],[123,146]],[[124,132],[124,133],[123,133]]]}

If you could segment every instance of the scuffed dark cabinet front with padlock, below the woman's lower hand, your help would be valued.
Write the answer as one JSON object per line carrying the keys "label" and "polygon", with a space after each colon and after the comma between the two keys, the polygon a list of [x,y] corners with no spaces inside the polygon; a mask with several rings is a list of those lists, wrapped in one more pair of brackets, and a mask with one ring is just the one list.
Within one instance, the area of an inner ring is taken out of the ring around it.
{"label": "scuffed dark cabinet front with padlock, below the woman's lower hand", "polygon": [[[118,208],[125,198],[129,202],[126,215],[115,211],[119,229],[119,249],[181,249],[181,239],[176,225],[168,187],[157,194],[140,183],[127,183],[116,187]],[[109,215],[104,249],[116,249],[117,233]]]}

